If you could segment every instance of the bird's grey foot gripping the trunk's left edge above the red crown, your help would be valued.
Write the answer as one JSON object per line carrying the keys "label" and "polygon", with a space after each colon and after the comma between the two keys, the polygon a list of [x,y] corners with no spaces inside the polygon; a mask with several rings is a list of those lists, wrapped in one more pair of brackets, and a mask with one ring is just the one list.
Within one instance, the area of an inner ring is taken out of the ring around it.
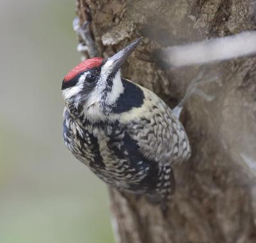
{"label": "bird's grey foot gripping the trunk's left edge above the red crown", "polygon": [[73,20],[74,31],[81,37],[82,42],[77,45],[78,52],[87,52],[90,58],[97,56],[97,48],[90,31],[90,20],[86,20],[82,26],[79,24],[79,18]]}

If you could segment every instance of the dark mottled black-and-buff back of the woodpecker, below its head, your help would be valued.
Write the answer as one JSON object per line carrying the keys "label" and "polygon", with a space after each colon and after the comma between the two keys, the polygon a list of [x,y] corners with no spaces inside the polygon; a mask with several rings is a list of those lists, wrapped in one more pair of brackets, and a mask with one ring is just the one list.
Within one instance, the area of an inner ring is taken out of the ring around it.
{"label": "dark mottled black-and-buff back of the woodpecker, below its head", "polygon": [[[150,170],[152,161],[143,158],[138,141],[118,122],[88,122],[81,128],[67,115],[63,137],[77,159],[88,165],[100,179],[118,188],[129,189],[131,184],[140,184]],[[145,190],[145,185],[140,189]]]}

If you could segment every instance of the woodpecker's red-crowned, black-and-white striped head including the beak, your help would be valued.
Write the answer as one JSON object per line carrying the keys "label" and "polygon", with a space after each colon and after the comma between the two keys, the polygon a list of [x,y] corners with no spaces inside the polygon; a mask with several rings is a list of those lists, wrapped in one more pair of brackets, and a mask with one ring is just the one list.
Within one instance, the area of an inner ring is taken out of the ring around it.
{"label": "woodpecker's red-crowned, black-and-white striped head including the beak", "polygon": [[92,118],[111,112],[124,92],[120,68],[141,40],[132,41],[108,59],[87,59],[65,76],[61,89],[70,112]]}

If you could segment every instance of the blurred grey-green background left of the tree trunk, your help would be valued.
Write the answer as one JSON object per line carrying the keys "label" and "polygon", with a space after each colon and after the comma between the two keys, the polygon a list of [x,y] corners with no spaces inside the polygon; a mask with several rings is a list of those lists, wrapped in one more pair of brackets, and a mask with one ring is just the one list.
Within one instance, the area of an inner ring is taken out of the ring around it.
{"label": "blurred grey-green background left of the tree trunk", "polygon": [[0,2],[0,242],[114,242],[106,186],[62,142],[75,0]]}

